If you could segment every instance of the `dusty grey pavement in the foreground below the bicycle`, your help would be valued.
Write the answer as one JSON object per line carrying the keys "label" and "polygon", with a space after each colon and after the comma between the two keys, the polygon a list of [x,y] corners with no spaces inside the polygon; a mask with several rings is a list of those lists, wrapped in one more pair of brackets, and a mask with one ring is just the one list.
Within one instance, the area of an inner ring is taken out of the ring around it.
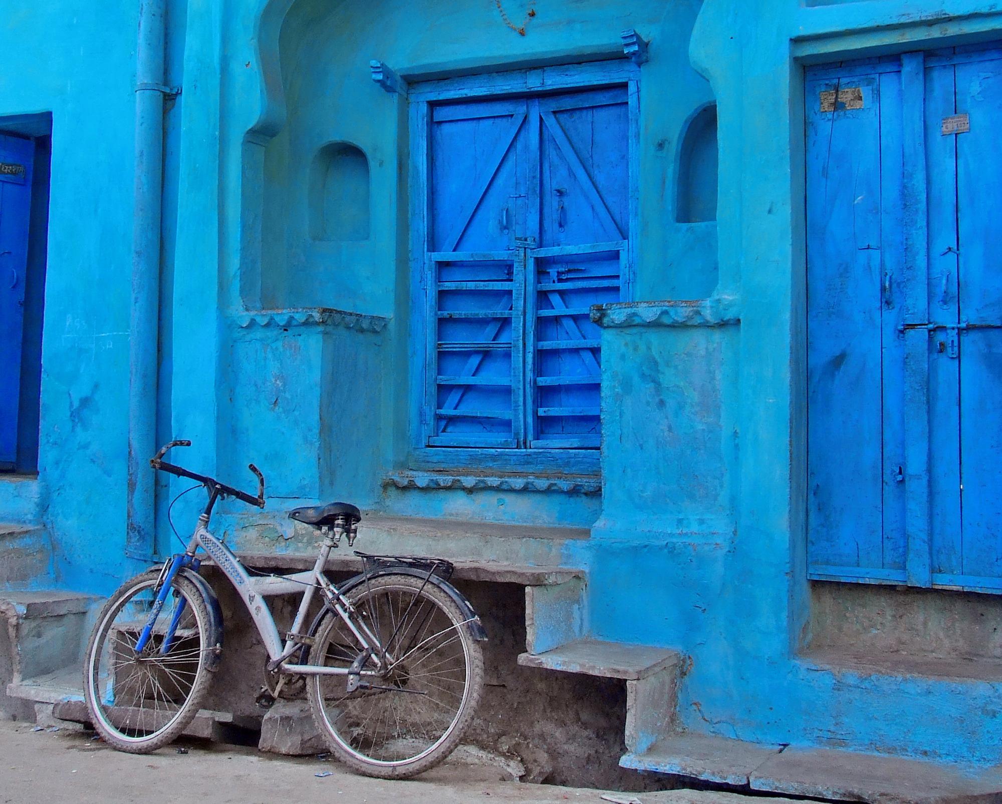
{"label": "dusty grey pavement in the foreground below the bicycle", "polygon": [[[186,754],[167,746],[140,756],[112,751],[91,733],[33,728],[0,722],[0,804],[606,804],[603,791],[502,781],[502,769],[489,766],[447,763],[418,780],[386,782],[315,757],[198,742],[184,744]],[[793,804],[694,790],[620,795],[642,804]]]}

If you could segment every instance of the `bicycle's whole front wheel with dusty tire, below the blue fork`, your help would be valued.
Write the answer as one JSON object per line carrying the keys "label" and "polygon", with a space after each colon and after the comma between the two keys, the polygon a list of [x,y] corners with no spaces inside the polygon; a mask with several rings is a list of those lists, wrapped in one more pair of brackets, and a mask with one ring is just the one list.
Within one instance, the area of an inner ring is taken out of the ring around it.
{"label": "bicycle's whole front wheel with dusty tire, below the blue fork", "polygon": [[[158,578],[158,572],[144,573],[118,588],[98,615],[84,661],[91,723],[108,745],[130,754],[148,754],[180,735],[201,709],[212,675],[206,667],[208,651],[214,649],[207,641],[208,604],[181,576],[171,583],[172,605],[168,596],[140,656],[135,658],[127,645],[129,640],[135,645],[145,624]],[[180,600],[184,604],[174,640],[161,655]]]}

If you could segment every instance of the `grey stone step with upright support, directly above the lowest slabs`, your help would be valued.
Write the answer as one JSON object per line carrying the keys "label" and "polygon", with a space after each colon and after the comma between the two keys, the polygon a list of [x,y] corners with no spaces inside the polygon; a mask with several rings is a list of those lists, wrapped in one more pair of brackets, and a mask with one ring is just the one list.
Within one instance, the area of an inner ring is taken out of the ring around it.
{"label": "grey stone step with upright support, directly above the lowest slabs", "polygon": [[645,751],[667,734],[678,708],[681,656],[648,645],[580,639],[541,654],[523,653],[523,667],[583,673],[626,682],[623,739],[631,752]]}

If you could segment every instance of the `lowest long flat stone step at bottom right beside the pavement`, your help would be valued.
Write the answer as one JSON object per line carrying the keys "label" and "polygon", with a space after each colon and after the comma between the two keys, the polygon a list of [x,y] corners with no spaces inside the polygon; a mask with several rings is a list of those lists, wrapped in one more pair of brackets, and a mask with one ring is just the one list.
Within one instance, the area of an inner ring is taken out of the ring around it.
{"label": "lowest long flat stone step at bottom right beside the pavement", "polygon": [[620,759],[624,768],[752,790],[871,804],[976,804],[1002,796],[1002,772],[838,749],[784,748],[676,734]]}

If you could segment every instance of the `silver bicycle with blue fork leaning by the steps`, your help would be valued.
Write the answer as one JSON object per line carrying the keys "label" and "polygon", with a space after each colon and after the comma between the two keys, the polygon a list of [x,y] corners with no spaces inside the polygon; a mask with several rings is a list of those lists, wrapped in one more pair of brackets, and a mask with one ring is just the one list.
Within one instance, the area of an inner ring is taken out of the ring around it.
{"label": "silver bicycle with blue fork leaning by the steps", "polygon": [[[480,619],[449,583],[442,559],[370,556],[342,584],[324,574],[331,551],[347,537],[353,548],[362,516],[332,503],[289,516],[320,532],[312,570],[252,576],[207,530],[219,499],[265,507],[265,477],[254,464],[252,496],[163,461],[174,441],[150,461],[154,470],[203,486],[208,502],[183,553],[126,581],[97,618],[84,660],[84,697],[92,723],[112,747],[149,753],[180,735],[201,708],[222,653],[223,622],[212,588],[199,574],[201,548],[239,594],[268,652],[276,689],[306,679],[317,728],[352,769],[404,779],[442,762],[459,744],[483,691],[486,641]],[[192,489],[197,486],[192,487]],[[284,638],[266,600],[303,593]],[[322,608],[308,625],[320,592]]]}

